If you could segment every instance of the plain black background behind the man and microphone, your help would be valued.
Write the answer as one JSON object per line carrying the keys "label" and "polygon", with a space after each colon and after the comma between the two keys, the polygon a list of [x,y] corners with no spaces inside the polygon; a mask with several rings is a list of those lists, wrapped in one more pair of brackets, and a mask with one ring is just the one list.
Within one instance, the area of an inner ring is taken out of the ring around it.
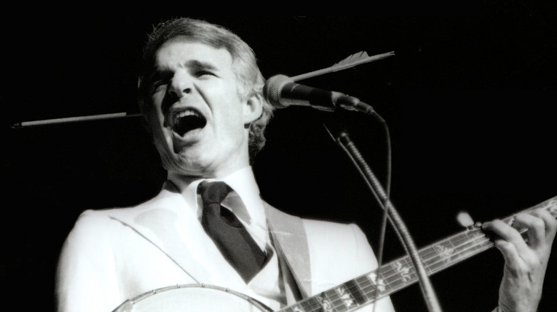
{"label": "plain black background behind the man and microphone", "polygon": [[[356,96],[386,120],[391,199],[418,247],[463,231],[458,212],[482,222],[557,194],[557,11],[550,4],[404,6],[359,16],[204,16],[185,4],[164,13],[34,9],[4,12],[1,49],[0,277],[6,301],[24,310],[54,310],[59,249],[80,212],[142,202],[165,173],[139,118],[11,125],[137,113],[141,46],[153,24],[169,17],[231,28],[254,48],[266,78],[326,68],[358,51],[395,51],[299,83]],[[330,118],[346,125],[386,182],[387,138],[377,120],[291,107],[276,111],[254,163],[262,195],[302,217],[356,222],[377,249],[381,209],[328,136],[323,120]],[[388,227],[384,261],[403,252]],[[502,269],[490,249],[431,281],[445,311],[491,311]],[[540,311],[554,311],[556,272],[553,252]],[[391,296],[397,311],[427,311],[418,284]]]}

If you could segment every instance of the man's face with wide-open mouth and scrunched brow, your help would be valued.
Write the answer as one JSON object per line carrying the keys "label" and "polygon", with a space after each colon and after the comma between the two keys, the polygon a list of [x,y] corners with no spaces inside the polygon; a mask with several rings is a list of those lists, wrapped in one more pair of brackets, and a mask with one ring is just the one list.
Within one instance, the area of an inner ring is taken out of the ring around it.
{"label": "man's face with wide-open mouth and scrunched brow", "polygon": [[244,125],[261,110],[239,97],[226,49],[174,38],[156,53],[152,81],[151,129],[169,172],[219,177],[249,165]]}

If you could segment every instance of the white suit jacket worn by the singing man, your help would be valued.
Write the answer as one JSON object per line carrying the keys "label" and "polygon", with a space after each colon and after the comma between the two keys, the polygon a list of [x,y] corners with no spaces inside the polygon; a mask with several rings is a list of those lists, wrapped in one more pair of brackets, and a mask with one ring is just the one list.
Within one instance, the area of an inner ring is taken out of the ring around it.
{"label": "white suit jacket worn by the singing man", "polygon": [[[143,293],[184,284],[226,287],[265,303],[225,264],[184,204],[178,190],[165,184],[136,207],[83,212],[60,254],[59,312],[110,312]],[[376,269],[373,251],[356,225],[300,219],[265,207],[275,248],[304,297]],[[393,311],[390,299],[378,301],[376,311]]]}

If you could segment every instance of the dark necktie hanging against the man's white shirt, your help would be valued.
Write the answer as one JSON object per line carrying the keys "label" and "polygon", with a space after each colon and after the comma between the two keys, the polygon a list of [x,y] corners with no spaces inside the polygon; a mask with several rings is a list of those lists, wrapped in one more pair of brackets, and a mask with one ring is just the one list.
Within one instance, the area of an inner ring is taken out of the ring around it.
{"label": "dark necktie hanging against the man's white shirt", "polygon": [[201,224],[247,284],[263,268],[266,256],[236,215],[221,206],[230,190],[224,182],[202,182],[199,185],[203,200]]}

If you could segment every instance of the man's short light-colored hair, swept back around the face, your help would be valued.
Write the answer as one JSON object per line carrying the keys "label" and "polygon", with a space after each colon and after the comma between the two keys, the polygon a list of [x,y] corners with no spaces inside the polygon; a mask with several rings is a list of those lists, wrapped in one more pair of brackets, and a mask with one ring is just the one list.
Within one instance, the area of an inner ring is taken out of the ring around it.
{"label": "man's short light-colored hair, swept back around the face", "polygon": [[[256,95],[263,103],[263,113],[254,120],[249,129],[249,155],[253,162],[255,155],[265,145],[265,128],[273,116],[274,107],[263,95],[265,78],[259,70],[257,59],[251,47],[229,29],[200,19],[176,18],[161,22],[149,33],[143,50],[143,64],[139,73],[139,109],[145,121],[151,105],[151,74],[154,71],[156,52],[171,38],[181,36],[189,41],[204,43],[214,48],[226,48],[232,56],[232,69],[239,81],[240,98]],[[149,129],[149,125],[147,125]]]}

